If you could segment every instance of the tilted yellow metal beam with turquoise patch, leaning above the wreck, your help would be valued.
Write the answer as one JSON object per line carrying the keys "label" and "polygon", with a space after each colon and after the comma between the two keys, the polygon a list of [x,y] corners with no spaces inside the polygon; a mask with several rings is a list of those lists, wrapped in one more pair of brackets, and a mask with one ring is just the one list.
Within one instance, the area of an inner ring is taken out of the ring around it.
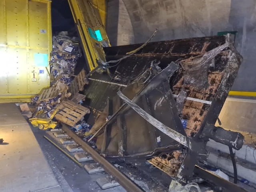
{"label": "tilted yellow metal beam with turquoise patch, leaning above the wreck", "polygon": [[77,25],[88,68],[92,71],[97,61],[105,62],[104,47],[110,46],[106,24],[105,0],[68,0]]}

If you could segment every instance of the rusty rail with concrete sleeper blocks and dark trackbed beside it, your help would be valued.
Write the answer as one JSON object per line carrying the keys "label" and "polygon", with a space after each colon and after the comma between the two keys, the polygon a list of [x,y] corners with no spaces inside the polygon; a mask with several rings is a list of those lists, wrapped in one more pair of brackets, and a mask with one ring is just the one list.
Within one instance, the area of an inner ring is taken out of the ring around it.
{"label": "rusty rail with concrete sleeper blocks and dark trackbed beside it", "polygon": [[61,129],[47,131],[44,137],[88,174],[95,174],[102,190],[121,185],[128,192],[168,191],[171,178],[164,172],[145,160],[106,160],[64,124]]}

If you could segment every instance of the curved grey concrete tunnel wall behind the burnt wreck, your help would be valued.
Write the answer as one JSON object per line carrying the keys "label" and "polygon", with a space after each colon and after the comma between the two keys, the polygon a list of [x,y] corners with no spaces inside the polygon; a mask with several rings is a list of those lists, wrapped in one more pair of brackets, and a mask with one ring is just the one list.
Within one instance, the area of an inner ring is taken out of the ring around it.
{"label": "curved grey concrete tunnel wall behind the burnt wreck", "polygon": [[244,57],[232,90],[256,91],[256,0],[109,0],[107,33],[112,46],[238,31]]}

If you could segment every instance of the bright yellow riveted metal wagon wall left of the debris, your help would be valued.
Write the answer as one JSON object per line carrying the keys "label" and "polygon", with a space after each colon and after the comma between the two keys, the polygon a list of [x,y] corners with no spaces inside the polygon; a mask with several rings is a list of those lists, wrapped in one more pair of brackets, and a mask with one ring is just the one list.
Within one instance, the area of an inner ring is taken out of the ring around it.
{"label": "bright yellow riveted metal wagon wall left of the debris", "polygon": [[0,102],[26,102],[50,85],[49,0],[0,0]]}

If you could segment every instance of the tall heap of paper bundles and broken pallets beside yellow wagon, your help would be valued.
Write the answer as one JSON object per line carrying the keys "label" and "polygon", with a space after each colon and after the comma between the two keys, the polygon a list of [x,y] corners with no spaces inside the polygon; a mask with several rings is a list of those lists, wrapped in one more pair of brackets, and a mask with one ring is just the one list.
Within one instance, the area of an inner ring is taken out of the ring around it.
{"label": "tall heap of paper bundles and broken pallets beside yellow wagon", "polygon": [[[51,86],[32,99],[31,104],[35,109],[29,120],[34,127],[43,130],[54,129],[58,122],[62,122],[77,131],[88,132],[90,125],[84,121],[84,116],[90,110],[81,105],[85,95],[79,94],[88,81],[84,69],[74,75],[76,60],[81,57],[79,42],[64,35],[53,36],[52,42],[49,72]],[[20,107],[21,110],[24,108],[22,111],[29,109],[27,104]]]}

